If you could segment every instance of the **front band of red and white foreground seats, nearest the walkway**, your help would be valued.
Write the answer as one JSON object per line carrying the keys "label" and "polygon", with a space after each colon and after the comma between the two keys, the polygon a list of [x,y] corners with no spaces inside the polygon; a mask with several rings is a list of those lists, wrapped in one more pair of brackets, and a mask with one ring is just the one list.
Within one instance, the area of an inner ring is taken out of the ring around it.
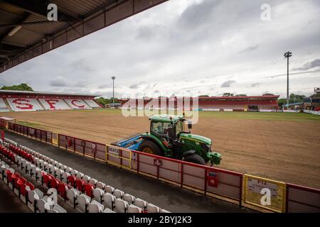
{"label": "front band of red and white foreground seats, nearest the walkway", "polygon": [[[68,201],[75,209],[82,212],[168,212],[158,206],[148,204],[146,201],[135,198],[130,194],[124,194],[119,189],[98,182],[87,175],[83,175],[77,170],[66,167],[55,160],[34,152],[31,149],[11,143],[14,152],[24,155],[33,166],[24,164],[16,160],[19,167],[26,170],[31,177],[40,181],[48,188],[57,189],[61,198]],[[28,155],[31,155],[29,157]],[[32,198],[31,198],[32,199]]]}

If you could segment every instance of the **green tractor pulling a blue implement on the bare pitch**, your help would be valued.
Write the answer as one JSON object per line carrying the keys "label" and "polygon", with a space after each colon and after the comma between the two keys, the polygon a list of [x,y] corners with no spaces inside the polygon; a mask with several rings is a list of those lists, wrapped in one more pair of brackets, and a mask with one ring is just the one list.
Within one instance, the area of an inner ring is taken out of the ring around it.
{"label": "green tractor pulling a blue implement on the bare pitch", "polygon": [[134,135],[112,145],[201,165],[207,162],[211,165],[220,164],[221,155],[211,150],[210,138],[191,134],[191,123],[188,123],[189,131],[185,131],[184,116],[161,114],[151,116],[149,120],[150,132]]}

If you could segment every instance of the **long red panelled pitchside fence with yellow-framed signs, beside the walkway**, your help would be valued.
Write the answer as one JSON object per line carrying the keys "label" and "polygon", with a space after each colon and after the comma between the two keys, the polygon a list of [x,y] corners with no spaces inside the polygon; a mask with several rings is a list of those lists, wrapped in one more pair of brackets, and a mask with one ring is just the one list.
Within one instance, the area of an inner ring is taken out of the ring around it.
{"label": "long red panelled pitchside fence with yellow-framed signs, beside the walkway", "polygon": [[[4,124],[4,121],[0,120],[0,127],[4,127]],[[137,150],[127,150],[17,123],[9,122],[8,124],[9,131],[57,145],[65,150],[92,157],[139,175],[148,175],[181,188],[191,189],[206,196],[218,196],[228,201],[232,199],[240,206],[250,204],[277,212],[320,212],[319,189],[242,175],[240,172],[183,162]],[[260,199],[264,196],[261,192],[262,188],[270,189],[271,206],[260,203]]]}

